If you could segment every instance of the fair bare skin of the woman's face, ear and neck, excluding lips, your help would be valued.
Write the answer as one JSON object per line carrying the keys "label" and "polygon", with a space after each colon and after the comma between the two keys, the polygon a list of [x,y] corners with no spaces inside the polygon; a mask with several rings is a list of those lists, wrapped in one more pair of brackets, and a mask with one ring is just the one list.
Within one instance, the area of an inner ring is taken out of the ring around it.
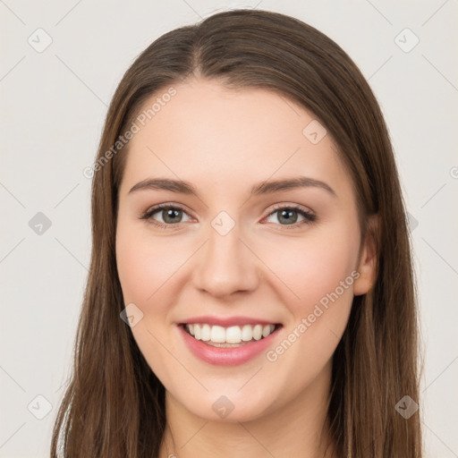
{"label": "fair bare skin of the woman's face, ear and neck, excluding lips", "polygon": [[[174,98],[130,142],[116,227],[124,303],[143,313],[131,332],[166,390],[160,456],[322,458],[332,356],[353,295],[367,293],[375,276],[373,245],[360,241],[351,177],[329,133],[317,144],[302,134],[315,118],[291,100],[201,79],[174,88]],[[297,176],[332,191],[310,185],[250,196],[259,182]],[[199,198],[129,192],[148,178],[191,182]],[[162,203],[178,206],[181,216],[158,210],[140,219]],[[292,205],[316,219],[293,210],[290,228],[278,208]],[[222,211],[235,223],[225,235],[212,225]],[[302,318],[352,272],[358,278],[298,333]],[[268,350],[294,329],[297,338],[276,360],[261,352],[221,367],[197,358],[178,331],[183,319],[201,315],[282,324]],[[212,409],[222,395],[233,404],[225,418]],[[327,456],[335,456],[332,447]]]}

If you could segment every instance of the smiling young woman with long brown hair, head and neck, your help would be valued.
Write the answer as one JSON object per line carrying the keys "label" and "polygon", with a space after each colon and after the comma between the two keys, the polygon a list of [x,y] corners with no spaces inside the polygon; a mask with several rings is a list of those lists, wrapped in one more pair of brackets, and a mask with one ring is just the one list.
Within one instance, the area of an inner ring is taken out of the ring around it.
{"label": "smiling young woman with long brown hair, head and neck", "polygon": [[250,10],[166,33],[93,172],[52,456],[421,456],[393,149],[330,38]]}

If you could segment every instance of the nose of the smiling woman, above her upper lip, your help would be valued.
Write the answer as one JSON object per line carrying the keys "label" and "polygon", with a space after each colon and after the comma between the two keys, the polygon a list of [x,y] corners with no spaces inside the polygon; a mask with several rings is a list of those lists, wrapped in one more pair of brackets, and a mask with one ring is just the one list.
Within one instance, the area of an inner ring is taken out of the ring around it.
{"label": "nose of the smiling woman, above her upper lip", "polygon": [[201,292],[223,298],[247,293],[259,284],[259,259],[243,241],[238,226],[222,235],[209,228],[208,241],[199,250],[193,283]]}

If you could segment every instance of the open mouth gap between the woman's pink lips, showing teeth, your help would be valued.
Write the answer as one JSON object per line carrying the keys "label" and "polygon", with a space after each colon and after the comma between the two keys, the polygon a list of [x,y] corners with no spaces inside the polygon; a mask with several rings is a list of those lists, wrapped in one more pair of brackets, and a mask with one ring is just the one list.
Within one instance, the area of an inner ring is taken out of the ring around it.
{"label": "open mouth gap between the woman's pink lips, showing teeth", "polygon": [[181,325],[194,339],[214,347],[234,348],[265,339],[282,327],[276,325],[210,326],[207,323]]}

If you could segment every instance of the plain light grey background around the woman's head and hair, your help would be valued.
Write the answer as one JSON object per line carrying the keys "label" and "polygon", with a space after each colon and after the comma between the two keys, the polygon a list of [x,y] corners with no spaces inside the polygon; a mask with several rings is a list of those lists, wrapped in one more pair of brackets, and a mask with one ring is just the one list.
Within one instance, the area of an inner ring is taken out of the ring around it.
{"label": "plain light grey background around the woman's head and hair", "polygon": [[[325,32],[376,93],[411,214],[426,456],[458,456],[456,0],[0,0],[1,457],[48,453],[89,266],[91,183],[82,171],[117,83],[166,31],[239,6],[291,14]],[[38,28],[52,38],[43,52]],[[405,52],[415,36],[419,44]],[[41,234],[29,225],[38,212],[52,223]]]}

